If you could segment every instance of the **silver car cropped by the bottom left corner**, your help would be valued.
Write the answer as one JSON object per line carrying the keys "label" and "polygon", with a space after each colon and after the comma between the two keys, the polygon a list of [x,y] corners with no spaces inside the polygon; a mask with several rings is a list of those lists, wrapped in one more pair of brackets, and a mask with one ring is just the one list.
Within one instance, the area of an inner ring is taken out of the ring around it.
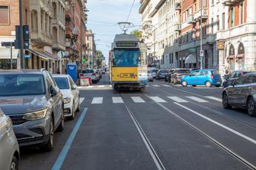
{"label": "silver car cropped by the bottom left corner", "polygon": [[12,120],[0,109],[0,167],[19,169],[19,144],[13,132]]}

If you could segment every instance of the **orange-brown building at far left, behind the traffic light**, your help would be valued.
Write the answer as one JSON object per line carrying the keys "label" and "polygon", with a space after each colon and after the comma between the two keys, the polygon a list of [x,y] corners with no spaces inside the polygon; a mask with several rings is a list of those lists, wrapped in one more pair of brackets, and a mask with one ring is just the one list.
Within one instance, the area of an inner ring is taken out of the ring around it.
{"label": "orange-brown building at far left, behind the traffic light", "polygon": [[[23,24],[29,24],[29,1],[23,1]],[[19,25],[19,0],[0,0],[0,69],[10,69],[11,58],[13,69],[20,68],[19,50],[1,47],[1,42],[14,42],[15,27]]]}

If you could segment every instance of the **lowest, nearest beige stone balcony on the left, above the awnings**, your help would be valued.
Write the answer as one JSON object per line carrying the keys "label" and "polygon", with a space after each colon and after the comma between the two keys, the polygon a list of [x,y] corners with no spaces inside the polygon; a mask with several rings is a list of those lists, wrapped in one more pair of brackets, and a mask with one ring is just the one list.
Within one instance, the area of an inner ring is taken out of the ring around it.
{"label": "lowest, nearest beige stone balcony on the left, above the awnings", "polygon": [[30,39],[33,44],[38,44],[39,46],[51,46],[53,44],[50,35],[46,35],[41,31],[32,30],[30,33]]}

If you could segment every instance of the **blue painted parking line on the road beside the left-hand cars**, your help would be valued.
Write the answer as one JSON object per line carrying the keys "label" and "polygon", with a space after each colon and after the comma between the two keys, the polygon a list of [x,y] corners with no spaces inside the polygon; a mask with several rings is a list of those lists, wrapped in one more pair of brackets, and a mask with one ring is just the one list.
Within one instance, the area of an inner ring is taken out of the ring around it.
{"label": "blue painted parking line on the road beside the left-hand cars", "polygon": [[65,146],[63,147],[62,152],[60,152],[58,159],[54,163],[52,170],[59,170],[62,168],[62,164],[64,163],[65,157],[68,154],[68,151],[73,143],[73,140],[76,137],[76,133],[78,132],[79,127],[81,126],[82,120],[85,118],[87,111],[88,111],[88,108],[83,109],[82,114],[79,117],[79,120],[77,120],[76,122],[76,126],[73,128],[73,131],[68,137],[68,140],[65,143]]}

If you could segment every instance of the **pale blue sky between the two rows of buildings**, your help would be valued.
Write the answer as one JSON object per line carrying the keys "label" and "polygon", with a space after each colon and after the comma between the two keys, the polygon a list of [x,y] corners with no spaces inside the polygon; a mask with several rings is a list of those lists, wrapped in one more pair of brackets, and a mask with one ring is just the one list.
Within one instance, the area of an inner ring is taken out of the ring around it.
{"label": "pale blue sky between the two rows of buildings", "polygon": [[[122,33],[117,22],[126,21],[132,4],[133,0],[88,0],[87,29],[95,33],[96,50],[101,50],[107,61],[114,36]],[[128,21],[133,23],[135,27],[131,27],[128,33],[140,29],[139,8],[140,0],[135,0],[131,15],[128,18]]]}

